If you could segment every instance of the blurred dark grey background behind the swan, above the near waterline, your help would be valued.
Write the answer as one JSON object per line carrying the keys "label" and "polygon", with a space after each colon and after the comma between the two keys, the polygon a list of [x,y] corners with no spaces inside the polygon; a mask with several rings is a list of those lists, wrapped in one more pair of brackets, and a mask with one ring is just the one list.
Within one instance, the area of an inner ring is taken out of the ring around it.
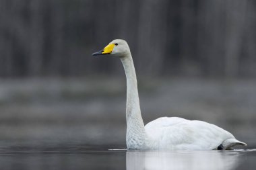
{"label": "blurred dark grey background behind the swan, above the near waterline", "polygon": [[144,123],[203,120],[256,146],[256,1],[0,0],[0,146],[125,148],[127,40]]}

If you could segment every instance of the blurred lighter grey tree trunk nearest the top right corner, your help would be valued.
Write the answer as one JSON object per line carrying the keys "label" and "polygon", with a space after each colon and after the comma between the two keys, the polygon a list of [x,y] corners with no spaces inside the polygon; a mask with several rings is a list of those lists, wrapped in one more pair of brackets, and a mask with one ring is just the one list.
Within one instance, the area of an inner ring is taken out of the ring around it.
{"label": "blurred lighter grey tree trunk nearest the top right corner", "polygon": [[245,34],[247,0],[226,0],[225,75],[236,77]]}

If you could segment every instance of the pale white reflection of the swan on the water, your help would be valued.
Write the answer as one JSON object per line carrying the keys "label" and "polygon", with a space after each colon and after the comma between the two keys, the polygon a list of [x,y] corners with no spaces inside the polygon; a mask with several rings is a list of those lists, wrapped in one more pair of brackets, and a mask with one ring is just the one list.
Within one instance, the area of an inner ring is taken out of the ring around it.
{"label": "pale white reflection of the swan on the water", "polygon": [[236,151],[127,151],[126,168],[133,169],[234,169]]}

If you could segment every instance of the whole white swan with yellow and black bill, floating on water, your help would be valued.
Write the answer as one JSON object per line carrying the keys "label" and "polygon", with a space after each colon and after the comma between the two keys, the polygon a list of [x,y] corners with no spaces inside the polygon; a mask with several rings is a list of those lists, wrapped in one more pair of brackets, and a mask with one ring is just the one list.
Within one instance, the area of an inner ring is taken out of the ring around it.
{"label": "whole white swan with yellow and black bill, floating on water", "polygon": [[110,42],[92,56],[117,56],[121,59],[127,80],[126,144],[128,149],[155,150],[223,150],[235,145],[247,146],[234,136],[214,125],[199,120],[163,117],[144,126],[139,107],[137,78],[133,58],[125,40]]}

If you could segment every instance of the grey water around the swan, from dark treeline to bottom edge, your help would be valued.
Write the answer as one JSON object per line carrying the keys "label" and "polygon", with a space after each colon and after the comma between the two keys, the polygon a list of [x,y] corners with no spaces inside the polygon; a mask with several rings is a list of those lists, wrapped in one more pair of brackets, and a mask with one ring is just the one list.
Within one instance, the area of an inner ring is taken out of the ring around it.
{"label": "grey water around the swan, from dark treeline to bottom edge", "polygon": [[145,124],[162,116],[203,120],[248,146],[233,151],[127,151],[125,81],[2,81],[0,170],[256,169],[256,81],[139,85]]}

